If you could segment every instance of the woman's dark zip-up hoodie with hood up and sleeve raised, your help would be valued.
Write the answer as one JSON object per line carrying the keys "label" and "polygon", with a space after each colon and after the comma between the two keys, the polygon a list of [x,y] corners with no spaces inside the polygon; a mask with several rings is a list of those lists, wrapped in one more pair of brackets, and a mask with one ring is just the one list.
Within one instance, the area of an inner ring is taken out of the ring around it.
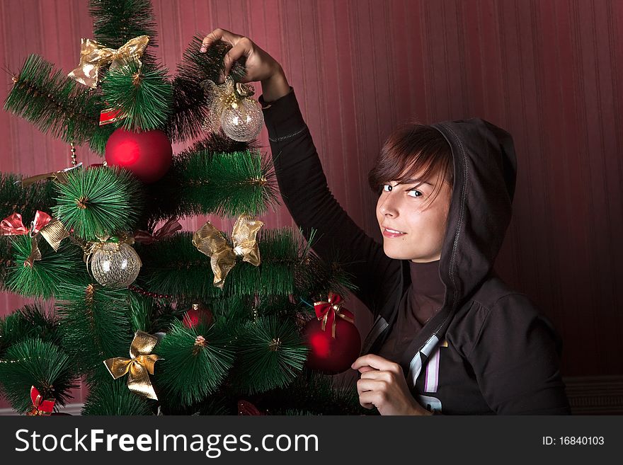
{"label": "woman's dark zip-up hoodie with hood up and sleeve raised", "polygon": [[[260,101],[285,205],[305,236],[319,231],[319,256],[348,256],[355,294],[375,314],[362,354],[376,353],[410,284],[409,262],[387,257],[331,195],[294,91]],[[559,336],[493,272],[515,192],[513,139],[480,119],[433,127],[452,147],[455,183],[440,258],[444,304],[399,360],[411,394],[445,414],[568,414]]]}

